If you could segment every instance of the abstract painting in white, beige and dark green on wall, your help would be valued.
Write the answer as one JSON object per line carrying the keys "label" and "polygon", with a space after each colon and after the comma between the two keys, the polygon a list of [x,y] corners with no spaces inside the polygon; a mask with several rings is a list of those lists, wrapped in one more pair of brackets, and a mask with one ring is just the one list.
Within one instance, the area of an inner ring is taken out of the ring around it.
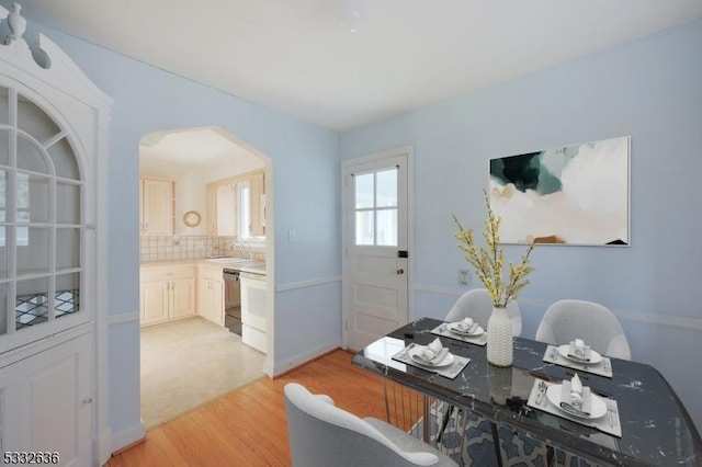
{"label": "abstract painting in white, beige and dark green on wall", "polygon": [[500,241],[629,246],[630,139],[490,159]]}

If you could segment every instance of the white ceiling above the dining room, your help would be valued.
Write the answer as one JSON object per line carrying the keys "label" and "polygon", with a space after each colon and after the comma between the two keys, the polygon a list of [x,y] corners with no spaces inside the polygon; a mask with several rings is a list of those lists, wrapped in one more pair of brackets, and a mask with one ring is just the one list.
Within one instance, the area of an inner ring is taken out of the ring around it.
{"label": "white ceiling above the dining room", "polygon": [[52,29],[333,130],[702,18],[701,0],[20,3]]}

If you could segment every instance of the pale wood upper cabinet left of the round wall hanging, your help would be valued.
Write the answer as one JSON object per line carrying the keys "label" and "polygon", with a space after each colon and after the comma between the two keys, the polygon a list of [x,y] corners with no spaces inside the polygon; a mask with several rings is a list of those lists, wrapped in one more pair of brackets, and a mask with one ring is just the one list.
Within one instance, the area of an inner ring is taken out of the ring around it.
{"label": "pale wood upper cabinet left of the round wall hanging", "polygon": [[141,178],[140,182],[140,234],[149,236],[173,235],[174,182],[146,176]]}

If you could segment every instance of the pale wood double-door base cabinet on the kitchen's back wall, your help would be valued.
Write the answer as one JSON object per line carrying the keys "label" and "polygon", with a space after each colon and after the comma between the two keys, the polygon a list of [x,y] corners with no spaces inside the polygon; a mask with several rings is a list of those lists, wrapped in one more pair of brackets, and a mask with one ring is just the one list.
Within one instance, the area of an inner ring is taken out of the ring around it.
{"label": "pale wood double-door base cabinet on the kitchen's back wall", "polygon": [[194,265],[141,267],[139,284],[141,326],[194,316],[196,314],[195,276]]}

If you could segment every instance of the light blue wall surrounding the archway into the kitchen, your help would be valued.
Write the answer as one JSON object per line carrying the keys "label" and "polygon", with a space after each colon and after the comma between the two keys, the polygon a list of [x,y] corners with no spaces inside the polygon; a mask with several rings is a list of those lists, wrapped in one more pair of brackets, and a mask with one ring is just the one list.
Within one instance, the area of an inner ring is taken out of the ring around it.
{"label": "light blue wall surrounding the archway into the kitchen", "polygon": [[[59,32],[38,25],[34,30],[58,44],[114,99],[109,155],[109,306],[100,312],[106,312],[111,321],[110,417],[117,444],[133,441],[129,437],[139,425],[137,181],[138,141],[147,133],[216,125],[273,161],[275,231],[269,241],[274,238],[276,285],[327,281],[305,291],[314,307],[301,306],[290,291],[278,294],[275,364],[294,361],[306,350],[301,349],[299,332],[307,332],[307,349],[338,346],[338,135]],[[296,231],[295,242],[288,242],[290,229]],[[314,332],[305,326],[308,322],[315,323]]]}

